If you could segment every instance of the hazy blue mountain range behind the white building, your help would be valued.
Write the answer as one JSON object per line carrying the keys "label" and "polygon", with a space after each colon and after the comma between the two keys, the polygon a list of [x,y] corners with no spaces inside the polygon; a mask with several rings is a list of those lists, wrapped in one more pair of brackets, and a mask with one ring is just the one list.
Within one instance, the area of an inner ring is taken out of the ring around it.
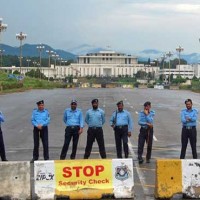
{"label": "hazy blue mountain range behind the white building", "polygon": [[[39,51],[37,49],[38,44],[24,44],[22,46],[22,56],[24,57],[39,57]],[[102,47],[95,47],[89,44],[83,44],[71,49],[68,49],[67,51],[61,50],[61,49],[54,49],[49,45],[43,44],[42,46],[45,47],[45,49],[42,51],[42,57],[47,58],[48,53],[46,53],[46,50],[51,50],[56,52],[61,58],[65,60],[76,60],[77,55],[86,55],[87,53],[96,53],[102,50],[111,50],[110,48],[102,48]],[[19,47],[12,47],[9,45],[2,44],[1,49],[4,49],[4,55],[13,55],[13,56],[19,56]],[[130,52],[126,51],[120,51],[122,53],[130,54]],[[147,61],[149,58],[150,60],[154,59],[160,59],[162,55],[164,55],[166,52],[162,52],[156,49],[145,49],[143,51],[139,52],[131,52],[132,55],[135,55],[138,57],[139,61]],[[199,63],[200,62],[200,54],[199,53],[191,53],[191,54],[185,54],[181,53],[181,59],[186,60],[189,64],[193,63]],[[171,60],[174,58],[178,58],[178,53],[173,52],[173,56],[171,57]]]}

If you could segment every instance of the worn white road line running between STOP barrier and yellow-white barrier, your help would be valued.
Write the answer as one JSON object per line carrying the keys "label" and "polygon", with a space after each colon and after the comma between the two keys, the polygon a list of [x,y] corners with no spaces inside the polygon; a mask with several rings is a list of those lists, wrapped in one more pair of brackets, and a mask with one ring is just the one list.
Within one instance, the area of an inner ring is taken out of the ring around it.
{"label": "worn white road line running between STOP barrier and yellow-white barrier", "polygon": [[[136,155],[135,155],[135,153],[133,151],[133,145],[131,144],[130,139],[128,139],[128,147],[129,147],[129,151],[130,151],[130,153],[132,155],[133,160],[137,160],[137,157],[136,157]],[[145,182],[145,178],[144,178],[144,173],[139,168],[139,164],[137,162],[134,162],[134,164],[135,164],[136,171],[137,171],[138,177],[140,179],[140,183],[142,185],[142,189],[144,191],[144,194],[148,195],[149,194],[149,189],[145,187],[146,182]],[[145,197],[145,199],[147,199],[147,197]]]}

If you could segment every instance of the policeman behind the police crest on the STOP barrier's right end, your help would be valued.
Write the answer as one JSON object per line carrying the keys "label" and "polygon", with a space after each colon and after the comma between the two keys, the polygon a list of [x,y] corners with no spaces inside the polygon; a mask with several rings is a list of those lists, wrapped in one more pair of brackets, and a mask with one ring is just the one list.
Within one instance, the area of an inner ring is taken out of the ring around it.
{"label": "policeman behind the police crest on the STOP barrier's right end", "polygon": [[123,101],[117,103],[117,110],[113,112],[110,118],[110,125],[115,132],[117,158],[122,158],[122,143],[125,158],[128,158],[128,137],[131,136],[131,131],[133,130],[133,120],[130,113],[124,110]]}

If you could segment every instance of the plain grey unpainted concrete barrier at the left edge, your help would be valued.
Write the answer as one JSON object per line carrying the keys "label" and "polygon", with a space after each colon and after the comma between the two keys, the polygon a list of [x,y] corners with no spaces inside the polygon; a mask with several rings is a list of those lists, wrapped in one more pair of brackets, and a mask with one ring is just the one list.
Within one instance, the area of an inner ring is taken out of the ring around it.
{"label": "plain grey unpainted concrete barrier at the left edge", "polygon": [[0,162],[0,199],[31,199],[30,162]]}

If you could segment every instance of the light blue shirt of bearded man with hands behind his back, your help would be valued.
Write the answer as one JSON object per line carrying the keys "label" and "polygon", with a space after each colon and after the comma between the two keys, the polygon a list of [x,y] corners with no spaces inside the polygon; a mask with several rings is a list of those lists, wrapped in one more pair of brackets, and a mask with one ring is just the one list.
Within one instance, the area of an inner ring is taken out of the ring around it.
{"label": "light blue shirt of bearded man with hands behind his back", "polygon": [[96,110],[93,108],[89,109],[86,112],[85,122],[89,127],[102,127],[105,123],[104,111],[100,108],[97,108]]}

